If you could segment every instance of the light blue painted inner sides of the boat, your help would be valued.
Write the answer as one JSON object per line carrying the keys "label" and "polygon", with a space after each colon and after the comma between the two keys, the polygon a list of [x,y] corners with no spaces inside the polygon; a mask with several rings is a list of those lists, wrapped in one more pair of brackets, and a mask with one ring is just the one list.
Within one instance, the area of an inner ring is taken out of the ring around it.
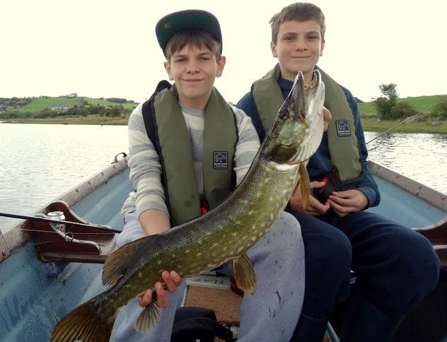
{"label": "light blue painted inner sides of the boat", "polygon": [[[447,216],[442,200],[438,205],[424,199],[442,195],[436,191],[429,189],[429,195],[424,195],[420,184],[416,184],[419,193],[415,194],[381,177],[376,177],[376,181],[382,194],[381,205],[368,210],[388,217],[399,212],[400,223],[408,227],[432,225]],[[59,199],[91,223],[122,230],[120,208],[131,191],[129,169],[122,160],[112,170],[108,168]],[[101,284],[103,265],[42,262],[37,259],[33,239],[23,237],[19,231],[20,227],[16,227],[0,235],[8,248],[0,262],[0,341],[50,341],[59,319],[105,290]],[[0,242],[0,249],[1,246]]]}

